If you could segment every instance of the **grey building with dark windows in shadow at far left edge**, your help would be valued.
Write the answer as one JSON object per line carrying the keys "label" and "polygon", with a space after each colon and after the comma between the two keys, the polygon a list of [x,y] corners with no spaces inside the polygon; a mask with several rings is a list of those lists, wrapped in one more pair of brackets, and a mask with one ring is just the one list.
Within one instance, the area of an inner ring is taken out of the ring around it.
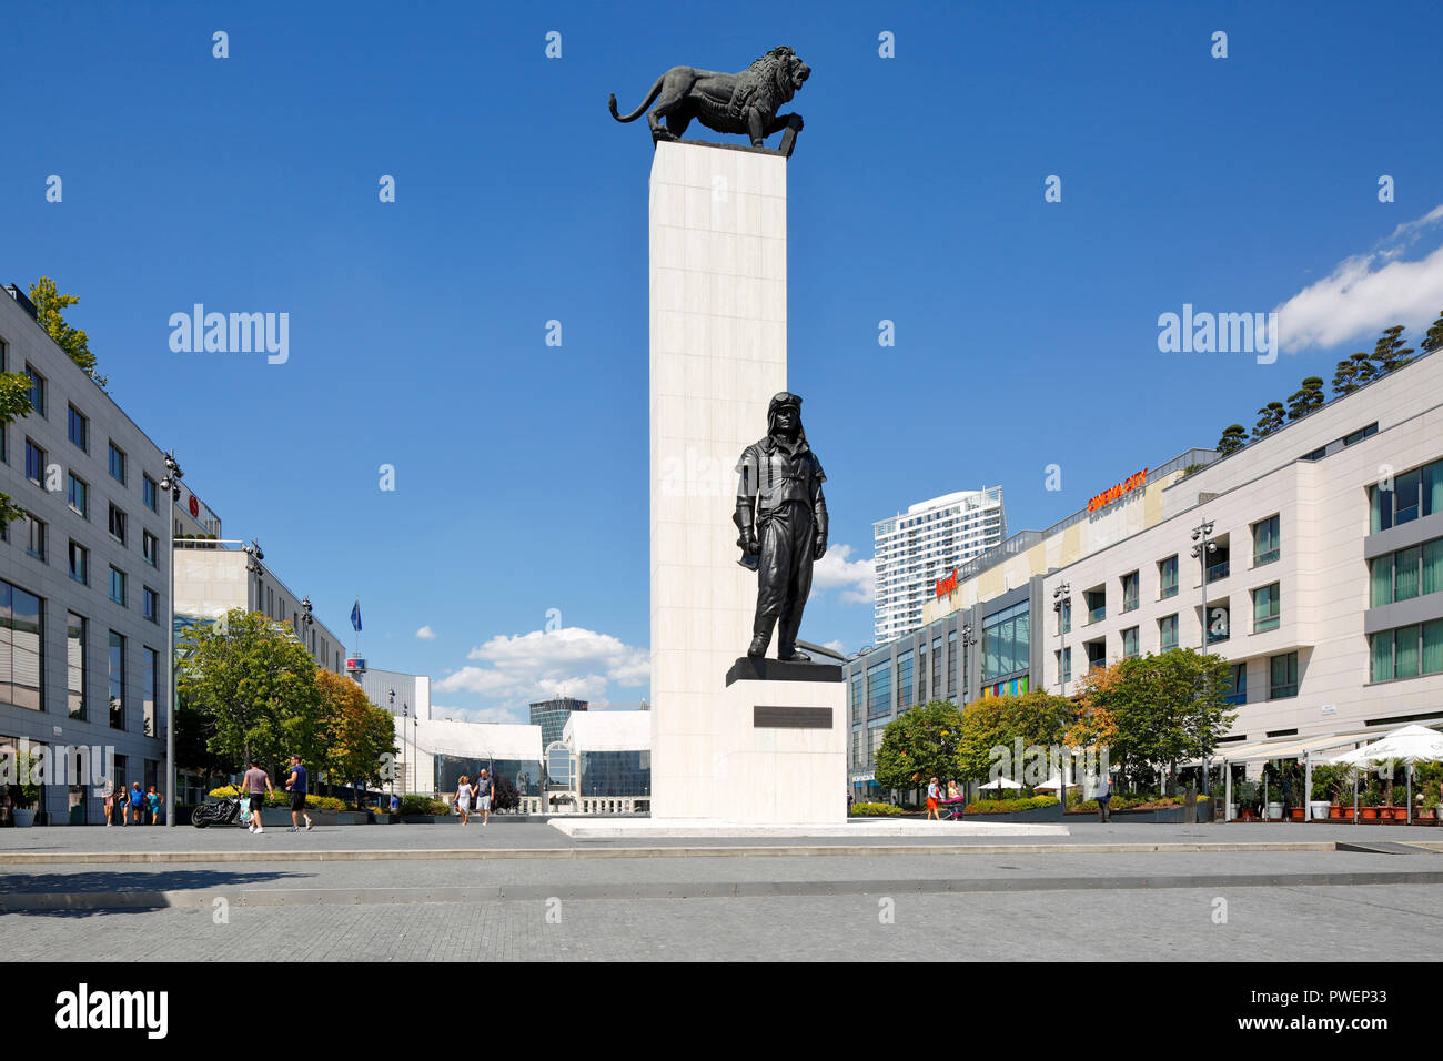
{"label": "grey building with dark windows in shadow at far left edge", "polygon": [[165,453],[17,287],[0,368],[30,377],[33,406],[0,433],[0,491],[29,514],[0,525],[0,755],[7,780],[20,754],[45,771],[36,821],[94,824],[100,772],[169,788]]}

